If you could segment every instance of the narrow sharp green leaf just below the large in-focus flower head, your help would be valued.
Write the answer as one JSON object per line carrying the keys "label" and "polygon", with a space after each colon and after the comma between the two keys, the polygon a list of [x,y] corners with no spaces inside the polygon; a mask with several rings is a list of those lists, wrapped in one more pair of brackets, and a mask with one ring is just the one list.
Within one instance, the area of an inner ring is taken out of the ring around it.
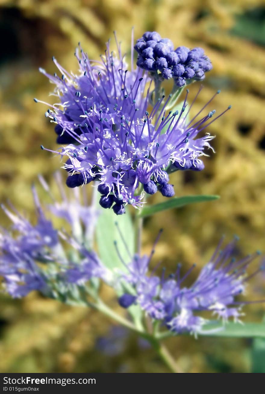
{"label": "narrow sharp green leaf just below the large in-focus flower head", "polygon": [[183,196],[183,197],[175,197],[171,198],[168,201],[164,201],[163,203],[144,206],[142,211],[140,212],[140,217],[146,217],[157,212],[164,211],[166,209],[171,208],[180,208],[181,206],[193,204],[193,203],[203,203],[204,201],[212,201],[217,200],[220,197],[217,195],[195,195],[195,196]]}

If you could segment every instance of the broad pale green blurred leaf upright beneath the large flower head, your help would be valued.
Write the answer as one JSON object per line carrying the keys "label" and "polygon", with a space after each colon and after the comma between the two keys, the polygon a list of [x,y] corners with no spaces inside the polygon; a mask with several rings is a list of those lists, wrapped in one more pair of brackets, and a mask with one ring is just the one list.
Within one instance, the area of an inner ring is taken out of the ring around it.
{"label": "broad pale green blurred leaf upright beneath the large flower head", "polygon": [[126,214],[116,216],[112,209],[102,208],[96,227],[96,240],[99,257],[103,264],[111,270],[116,268],[125,269],[116,251],[114,241],[117,242],[121,258],[123,258],[125,262],[129,262],[130,260],[128,251],[115,223],[118,223],[118,227],[125,238],[129,252],[131,255],[134,254],[134,230],[129,210],[126,210]]}

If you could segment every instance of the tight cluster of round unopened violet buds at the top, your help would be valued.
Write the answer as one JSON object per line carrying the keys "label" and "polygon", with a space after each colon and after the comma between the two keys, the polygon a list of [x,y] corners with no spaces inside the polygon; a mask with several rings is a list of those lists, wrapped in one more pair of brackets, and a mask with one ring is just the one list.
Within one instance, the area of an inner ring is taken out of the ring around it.
{"label": "tight cluster of round unopened violet buds at the top", "polygon": [[193,80],[202,81],[205,72],[212,70],[210,59],[202,48],[189,49],[174,44],[168,38],[161,38],[157,32],[145,32],[136,41],[137,65],[141,69],[159,73],[164,79],[173,78],[178,87]]}

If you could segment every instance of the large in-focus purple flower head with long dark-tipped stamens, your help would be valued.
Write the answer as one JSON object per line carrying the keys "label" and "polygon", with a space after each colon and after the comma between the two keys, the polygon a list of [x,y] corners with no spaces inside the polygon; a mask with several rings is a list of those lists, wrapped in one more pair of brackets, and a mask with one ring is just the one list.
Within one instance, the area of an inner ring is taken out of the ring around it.
{"label": "large in-focus purple flower head with long dark-tipped stamens", "polygon": [[[172,50],[170,40],[160,40],[156,32],[146,32],[143,37],[135,46],[142,54],[146,48],[139,43],[143,40],[148,48],[157,40],[157,45]],[[201,48],[187,51],[180,47],[173,52],[174,61],[179,59],[183,63],[174,67],[186,67],[179,78],[190,75],[191,79],[191,71],[196,69],[197,76],[192,79],[202,79],[200,70],[210,69],[210,61]],[[215,110],[206,109],[215,95],[190,120],[188,114],[195,100],[188,105],[188,90],[181,108],[172,110],[175,87],[166,97],[154,73],[139,64],[134,69],[133,58],[129,71],[118,43],[117,54],[110,51],[107,43],[100,61],[90,60],[80,45],[75,56],[78,74],[66,71],[54,58],[59,75],[40,69],[55,84],[53,95],[58,102],[44,104],[49,106],[46,117],[55,124],[57,143],[62,145],[55,153],[66,158],[63,168],[68,171],[67,186],[75,188],[97,181],[99,204],[103,208],[112,207],[117,215],[125,213],[126,204],[142,206],[144,193],[160,191],[164,197],[172,197],[175,191],[169,173],[204,168],[201,157],[212,149],[210,141],[214,137],[203,131],[223,114],[212,119]],[[198,94],[200,91],[201,88]]]}

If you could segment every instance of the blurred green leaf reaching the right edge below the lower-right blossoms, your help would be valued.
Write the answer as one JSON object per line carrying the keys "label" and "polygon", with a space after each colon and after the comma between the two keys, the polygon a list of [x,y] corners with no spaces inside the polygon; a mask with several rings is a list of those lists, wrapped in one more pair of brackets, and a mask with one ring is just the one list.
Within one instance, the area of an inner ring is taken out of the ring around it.
{"label": "blurred green leaf reaching the right edge below the lower-right blossoms", "polygon": [[265,322],[264,323],[223,323],[210,322],[203,326],[200,333],[203,336],[222,336],[230,338],[265,338]]}

